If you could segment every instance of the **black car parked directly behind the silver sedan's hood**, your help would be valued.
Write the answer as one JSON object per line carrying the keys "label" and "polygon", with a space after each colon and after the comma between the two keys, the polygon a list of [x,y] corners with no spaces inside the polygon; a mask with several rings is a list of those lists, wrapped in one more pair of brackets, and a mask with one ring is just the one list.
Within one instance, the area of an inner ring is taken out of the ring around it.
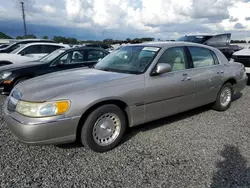
{"label": "black car parked directly behind the silver sedan's hood", "polygon": [[101,48],[63,48],[38,61],[1,67],[0,93],[9,94],[15,85],[36,76],[78,67],[92,67],[107,54]]}

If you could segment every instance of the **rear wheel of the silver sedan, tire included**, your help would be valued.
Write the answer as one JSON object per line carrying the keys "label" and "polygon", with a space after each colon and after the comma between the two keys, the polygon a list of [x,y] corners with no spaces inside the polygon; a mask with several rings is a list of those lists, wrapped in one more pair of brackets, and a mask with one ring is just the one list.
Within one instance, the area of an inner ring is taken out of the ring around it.
{"label": "rear wheel of the silver sedan, tire included", "polygon": [[[224,96],[228,95],[226,97],[227,99],[224,98],[223,100],[223,95]],[[230,83],[225,83],[217,95],[217,99],[213,105],[213,109],[217,111],[226,111],[231,106],[232,97],[233,97],[233,86]]]}

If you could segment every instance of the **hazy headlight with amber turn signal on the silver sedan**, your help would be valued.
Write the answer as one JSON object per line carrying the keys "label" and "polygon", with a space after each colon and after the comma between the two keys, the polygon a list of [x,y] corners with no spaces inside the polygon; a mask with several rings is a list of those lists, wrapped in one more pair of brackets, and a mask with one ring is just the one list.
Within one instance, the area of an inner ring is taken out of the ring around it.
{"label": "hazy headlight with amber turn signal on the silver sedan", "polygon": [[19,101],[16,111],[28,117],[49,117],[65,114],[70,107],[70,102],[52,101],[44,103]]}

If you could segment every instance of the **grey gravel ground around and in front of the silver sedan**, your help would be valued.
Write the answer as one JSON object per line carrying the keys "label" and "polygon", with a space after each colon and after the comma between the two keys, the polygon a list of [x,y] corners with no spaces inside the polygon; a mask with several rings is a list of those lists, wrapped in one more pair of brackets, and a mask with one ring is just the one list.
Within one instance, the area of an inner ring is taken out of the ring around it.
{"label": "grey gravel ground around and in front of the silver sedan", "polygon": [[250,86],[242,94],[223,113],[202,107],[130,129],[103,154],[21,144],[1,117],[0,187],[250,187]]}

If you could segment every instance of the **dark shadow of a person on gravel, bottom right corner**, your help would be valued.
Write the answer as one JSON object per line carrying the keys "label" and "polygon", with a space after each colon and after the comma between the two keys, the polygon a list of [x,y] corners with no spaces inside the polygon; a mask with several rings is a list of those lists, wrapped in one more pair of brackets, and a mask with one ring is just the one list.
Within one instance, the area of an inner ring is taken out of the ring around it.
{"label": "dark shadow of a person on gravel, bottom right corner", "polygon": [[217,172],[213,175],[211,188],[250,187],[250,168],[239,148],[226,145],[221,151],[222,161],[217,162]]}

